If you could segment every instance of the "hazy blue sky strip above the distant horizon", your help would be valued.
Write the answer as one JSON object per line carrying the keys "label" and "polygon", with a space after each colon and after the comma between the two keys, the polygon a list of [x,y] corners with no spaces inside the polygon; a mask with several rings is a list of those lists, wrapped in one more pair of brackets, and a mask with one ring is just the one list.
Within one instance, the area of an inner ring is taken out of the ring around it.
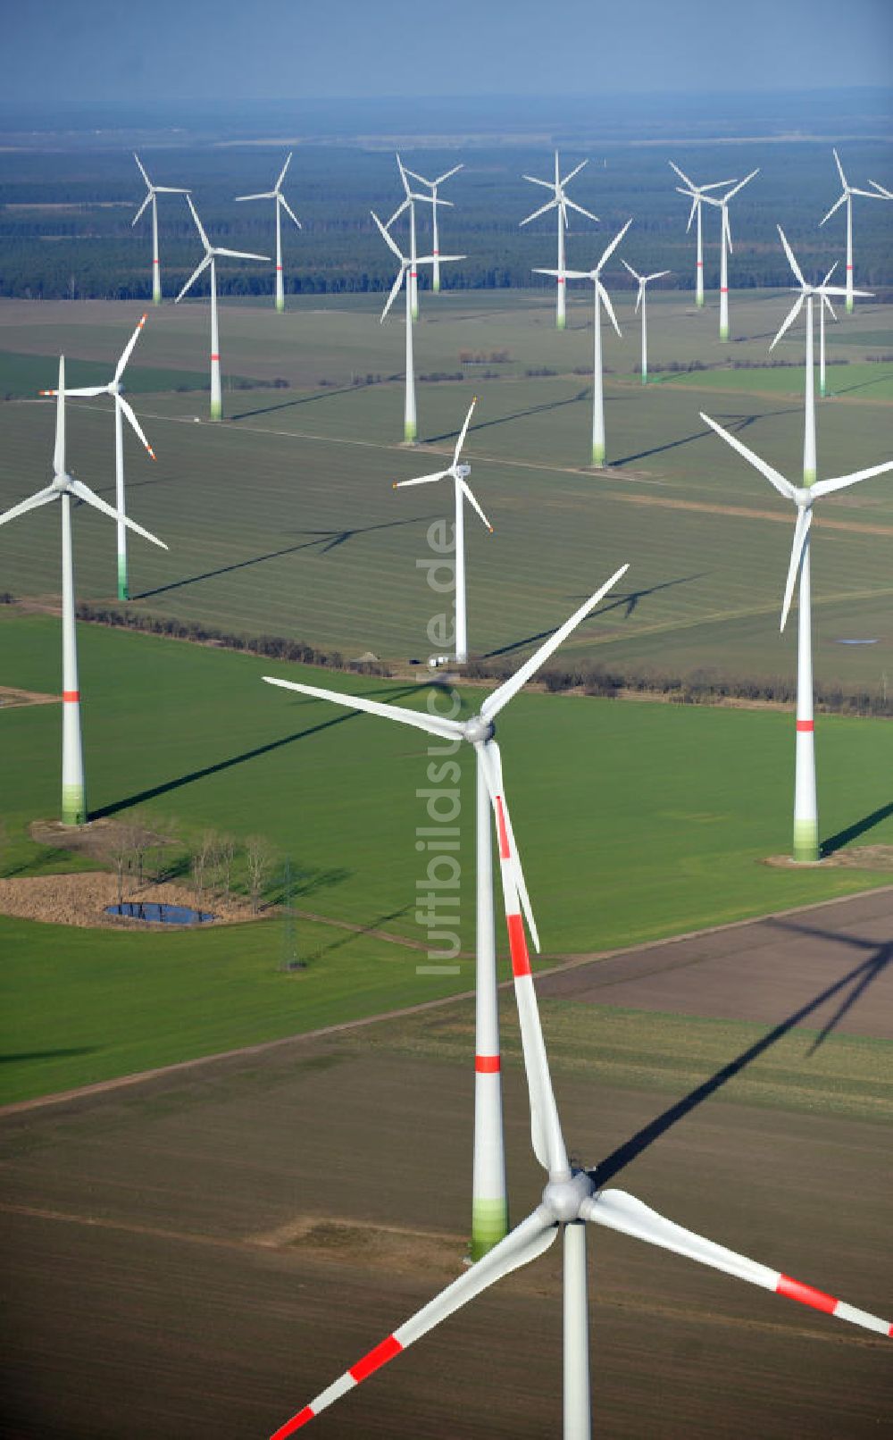
{"label": "hazy blue sky strip above the distant horizon", "polygon": [[13,104],[893,82],[893,0],[4,0]]}

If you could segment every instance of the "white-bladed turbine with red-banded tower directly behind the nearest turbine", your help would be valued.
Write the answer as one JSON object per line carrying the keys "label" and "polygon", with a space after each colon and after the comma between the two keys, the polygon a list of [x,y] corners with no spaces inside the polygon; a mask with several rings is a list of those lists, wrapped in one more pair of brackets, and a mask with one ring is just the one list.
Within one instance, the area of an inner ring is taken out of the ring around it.
{"label": "white-bladed turbine with red-banded tower directly behind the nearest turbine", "polygon": [[[344,696],[336,690],[320,690],[315,685],[298,684],[294,680],[275,680],[264,675],[271,685],[282,685],[284,690],[297,690],[300,694],[313,696],[317,700],[331,700],[337,706],[347,706],[351,710],[364,710],[369,714],[383,716],[386,720],[398,720],[400,724],[413,726],[428,734],[451,742],[467,740],[475,752],[477,766],[477,1018],[475,1018],[475,1063],[474,1063],[474,1176],[471,1204],[471,1253],[478,1260],[497,1241],[503,1240],[508,1230],[508,1204],[506,1200],[506,1155],[503,1146],[503,1090],[501,1090],[501,1061],[500,1061],[500,1022],[497,1007],[497,978],[495,978],[495,940],[493,922],[493,851],[491,851],[491,814],[497,827],[500,857],[503,860],[503,884],[508,873],[514,910],[523,909],[533,943],[539,950],[540,942],[530,909],[527,886],[514,842],[511,818],[508,815],[508,801],[503,788],[503,769],[498,744],[494,739],[494,720],[508,704],[513,696],[530,680],[544,664],[555,649],[570,635],[570,632],[589,615],[611,586],[625,575],[628,566],[611,576],[611,579],[589,596],[578,611],[555,631],[549,639],[540,645],[524,664],[504,681],[498,690],[487,696],[480,714],[470,720],[445,720],[436,714],[419,710],[405,710],[399,706],[385,706],[377,700],[366,700],[357,696]],[[508,850],[510,847],[510,850]],[[516,932],[523,942],[523,923],[520,913],[510,920],[510,937]],[[511,939],[513,956],[516,939]],[[526,952],[524,952],[526,953]],[[527,972],[530,963],[527,962]],[[530,992],[531,994],[531,992]],[[526,998],[529,1005],[530,999]]]}

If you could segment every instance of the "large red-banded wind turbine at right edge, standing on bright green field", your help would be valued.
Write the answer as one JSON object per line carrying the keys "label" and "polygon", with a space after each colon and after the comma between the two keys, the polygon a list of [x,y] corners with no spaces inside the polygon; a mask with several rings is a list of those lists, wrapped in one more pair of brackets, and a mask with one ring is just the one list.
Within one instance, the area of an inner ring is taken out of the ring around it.
{"label": "large red-banded wind turbine at right edge, standing on bright green field", "polygon": [[[802,297],[801,297],[802,298]],[[791,563],[788,566],[788,580],[785,585],[785,599],[782,603],[781,629],[784,631],[791,609],[794,582],[799,572],[799,616],[796,644],[796,752],[795,752],[795,780],[794,780],[794,860],[799,864],[812,864],[820,858],[818,847],[818,805],[815,799],[815,724],[812,720],[812,621],[811,621],[811,588],[809,588],[809,526],[812,524],[812,505],[821,495],[828,495],[834,490],[845,490],[860,480],[870,480],[873,475],[883,475],[893,469],[893,461],[883,465],[871,465],[869,469],[857,469],[851,475],[840,475],[835,480],[817,480],[808,485],[792,485],[779,471],[773,469],[765,459],[755,455],[752,449],[722,425],[701,413],[701,420],[716,431],[732,449],[765,475],[769,484],[796,505],[796,524],[794,527],[794,544],[791,547]]]}

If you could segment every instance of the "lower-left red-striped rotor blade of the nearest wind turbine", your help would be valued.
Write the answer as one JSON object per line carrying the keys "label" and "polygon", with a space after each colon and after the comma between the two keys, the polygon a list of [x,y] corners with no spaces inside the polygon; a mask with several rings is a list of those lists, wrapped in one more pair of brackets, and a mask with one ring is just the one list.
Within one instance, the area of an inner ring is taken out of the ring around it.
{"label": "lower-left red-striped rotor blade of the nearest wind turbine", "polygon": [[510,1274],[513,1270],[519,1270],[521,1266],[529,1264],[542,1256],[549,1246],[555,1241],[557,1236],[557,1227],[552,1217],[552,1212],[540,1205],[527,1220],[523,1220],[520,1225],[516,1225],[504,1240],[488,1250],[475,1264],[470,1266],[458,1280],[448,1284],[445,1290],[429,1300],[421,1310],[412,1316],[412,1319],[405,1320],[393,1335],[382,1341],[374,1349],[370,1349],[367,1355],[351,1365],[350,1369],[328,1385],[327,1390],[321,1391],[311,1400],[308,1405],[304,1405],[291,1420],[287,1420],[281,1426],[271,1440],[287,1440],[302,1426],[310,1424],[323,1410],[334,1404],[336,1400],[341,1400],[343,1395],[349,1394],[360,1381],[373,1375],[376,1369],[386,1365],[387,1361],[395,1359],[402,1351],[408,1349],[415,1341],[422,1339],[428,1331],[432,1331],[435,1325],[445,1320],[455,1310],[459,1310],[464,1305],[468,1305],[477,1295],[487,1290],[503,1276]]}

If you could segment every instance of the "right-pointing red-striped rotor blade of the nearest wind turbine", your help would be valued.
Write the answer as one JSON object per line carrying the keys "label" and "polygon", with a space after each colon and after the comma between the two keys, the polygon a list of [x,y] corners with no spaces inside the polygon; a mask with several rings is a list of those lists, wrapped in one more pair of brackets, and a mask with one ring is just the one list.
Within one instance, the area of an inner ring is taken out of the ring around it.
{"label": "right-pointing red-striped rotor blade of the nearest wind turbine", "polygon": [[622,1189],[602,1189],[598,1195],[591,1195],[582,1202],[580,1214],[609,1230],[619,1230],[624,1236],[645,1240],[661,1250],[673,1250],[687,1260],[697,1260],[699,1264],[710,1266],[713,1270],[723,1270],[739,1280],[759,1284],[763,1290],[773,1290],[789,1300],[799,1300],[801,1305],[809,1305],[827,1315],[834,1315],[840,1320],[850,1320],[853,1325],[861,1325],[879,1335],[890,1336],[893,1333],[889,1320],[881,1320],[866,1310],[857,1310],[844,1300],[812,1289],[811,1284],[792,1280],[779,1270],[771,1270],[769,1266],[749,1260],[746,1256],[737,1254],[736,1250],[717,1246],[713,1240],[706,1240],[704,1236],[699,1236],[693,1230],[684,1230],[683,1225],[674,1224]]}

